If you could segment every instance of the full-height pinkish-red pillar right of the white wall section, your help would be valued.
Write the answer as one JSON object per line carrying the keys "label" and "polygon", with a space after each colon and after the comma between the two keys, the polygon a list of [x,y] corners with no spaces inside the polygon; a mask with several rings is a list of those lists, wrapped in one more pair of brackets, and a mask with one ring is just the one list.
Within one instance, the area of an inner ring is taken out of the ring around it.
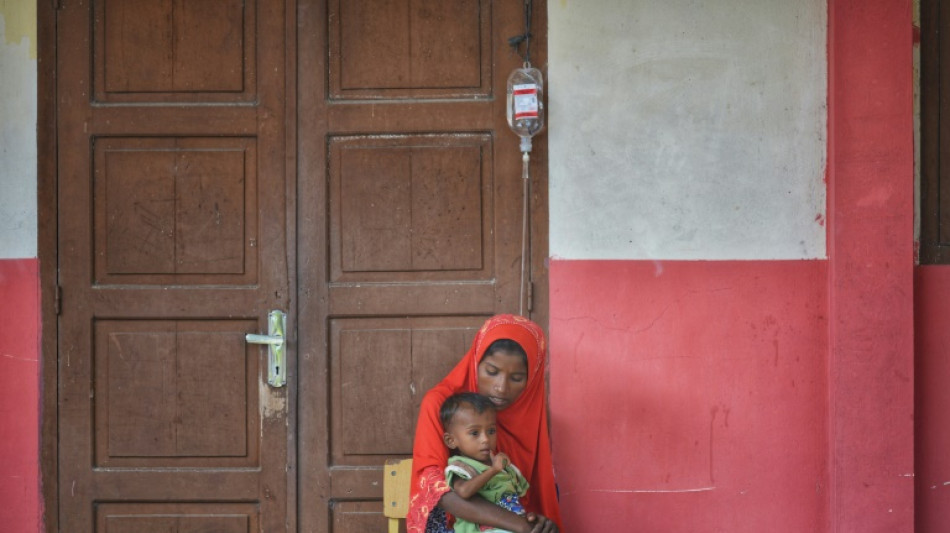
{"label": "full-height pinkish-red pillar right of the white wall section", "polygon": [[831,530],[913,531],[911,2],[829,2]]}

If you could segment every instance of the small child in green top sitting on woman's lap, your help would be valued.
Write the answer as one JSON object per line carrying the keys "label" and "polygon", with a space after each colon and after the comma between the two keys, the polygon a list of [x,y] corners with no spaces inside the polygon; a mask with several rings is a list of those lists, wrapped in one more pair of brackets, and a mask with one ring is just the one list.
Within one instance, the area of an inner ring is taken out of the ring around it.
{"label": "small child in green top sitting on woman's lap", "polygon": [[[513,513],[524,515],[519,497],[527,492],[528,481],[507,455],[495,452],[495,406],[491,400],[474,392],[454,394],[442,404],[439,416],[445,430],[445,445],[457,453],[449,458],[445,468],[446,482],[452,490],[465,499],[479,494]],[[455,521],[455,531],[504,533],[461,519]]]}

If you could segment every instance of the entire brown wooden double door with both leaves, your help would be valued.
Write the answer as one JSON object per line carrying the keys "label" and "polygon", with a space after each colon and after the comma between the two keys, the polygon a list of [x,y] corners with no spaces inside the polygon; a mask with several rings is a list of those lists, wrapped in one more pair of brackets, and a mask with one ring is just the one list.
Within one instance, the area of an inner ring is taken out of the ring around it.
{"label": "entire brown wooden double door with both leaves", "polygon": [[[487,316],[544,321],[523,4],[58,4],[50,529],[383,530],[422,394]],[[246,342],[275,310],[284,386]]]}

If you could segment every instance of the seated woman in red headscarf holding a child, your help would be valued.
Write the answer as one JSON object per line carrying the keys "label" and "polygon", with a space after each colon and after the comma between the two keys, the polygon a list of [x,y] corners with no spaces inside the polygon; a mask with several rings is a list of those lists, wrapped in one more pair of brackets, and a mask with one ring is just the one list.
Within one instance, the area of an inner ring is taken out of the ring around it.
{"label": "seated woman in red headscarf holding a child", "polygon": [[[534,322],[498,315],[475,335],[455,368],[422,399],[413,445],[409,533],[451,531],[446,514],[516,533],[557,533],[560,508],[551,463],[544,387],[544,333]],[[465,500],[445,483],[448,450],[439,407],[456,392],[480,392],[498,410],[498,449],[518,465],[531,487],[518,516],[479,497]]]}

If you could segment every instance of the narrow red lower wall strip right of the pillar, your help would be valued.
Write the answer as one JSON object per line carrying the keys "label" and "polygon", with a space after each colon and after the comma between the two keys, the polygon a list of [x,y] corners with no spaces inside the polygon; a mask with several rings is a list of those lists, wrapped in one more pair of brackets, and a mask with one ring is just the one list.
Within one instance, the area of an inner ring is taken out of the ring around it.
{"label": "narrow red lower wall strip right of the pillar", "polygon": [[950,268],[917,269],[917,533],[950,524]]}

